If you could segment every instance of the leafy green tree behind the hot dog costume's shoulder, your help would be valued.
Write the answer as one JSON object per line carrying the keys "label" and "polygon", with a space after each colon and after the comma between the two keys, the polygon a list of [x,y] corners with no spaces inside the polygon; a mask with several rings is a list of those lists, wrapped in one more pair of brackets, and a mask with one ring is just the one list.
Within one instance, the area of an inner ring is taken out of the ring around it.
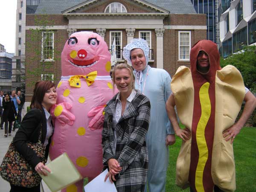
{"label": "leafy green tree behind the hot dog costume's shoulder", "polygon": [[221,58],[221,67],[235,66],[243,76],[244,85],[256,93],[256,46],[244,46],[243,49],[227,58]]}

